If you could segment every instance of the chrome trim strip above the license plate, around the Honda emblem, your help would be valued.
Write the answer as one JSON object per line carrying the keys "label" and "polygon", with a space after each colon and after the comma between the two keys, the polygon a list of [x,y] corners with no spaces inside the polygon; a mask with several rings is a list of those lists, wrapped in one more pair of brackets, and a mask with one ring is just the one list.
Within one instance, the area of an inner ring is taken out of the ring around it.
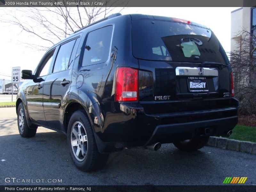
{"label": "chrome trim strip above the license plate, around the Honda emblem", "polygon": [[198,74],[198,67],[176,67],[176,76],[219,76],[215,68],[203,68],[204,75]]}

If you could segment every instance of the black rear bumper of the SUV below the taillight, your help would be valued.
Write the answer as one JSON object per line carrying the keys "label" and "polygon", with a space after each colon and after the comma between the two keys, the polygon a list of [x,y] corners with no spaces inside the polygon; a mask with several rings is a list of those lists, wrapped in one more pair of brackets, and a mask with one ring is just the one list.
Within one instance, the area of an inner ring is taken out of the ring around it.
{"label": "black rear bumper of the SUV below the taillight", "polygon": [[[146,114],[137,103],[101,102],[94,130],[101,153],[154,142],[172,143],[204,136],[226,136],[237,124],[238,101],[226,108]],[[95,105],[95,104],[94,104]],[[92,119],[94,119],[95,116]]]}

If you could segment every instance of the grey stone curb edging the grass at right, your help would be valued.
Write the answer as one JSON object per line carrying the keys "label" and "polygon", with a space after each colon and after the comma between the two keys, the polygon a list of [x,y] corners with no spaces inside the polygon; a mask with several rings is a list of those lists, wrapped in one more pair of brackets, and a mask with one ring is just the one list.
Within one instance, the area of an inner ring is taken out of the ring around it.
{"label": "grey stone curb edging the grass at right", "polygon": [[222,137],[210,137],[207,146],[219,147],[256,155],[256,143],[250,141],[239,141]]}

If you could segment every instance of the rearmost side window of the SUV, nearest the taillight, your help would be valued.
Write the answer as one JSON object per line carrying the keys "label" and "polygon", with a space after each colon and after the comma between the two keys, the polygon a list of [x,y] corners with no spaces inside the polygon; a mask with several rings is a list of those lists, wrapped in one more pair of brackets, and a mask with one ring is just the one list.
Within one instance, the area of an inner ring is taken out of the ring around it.
{"label": "rearmost side window of the SUV, nearest the taillight", "polygon": [[112,31],[111,25],[89,33],[84,47],[83,67],[108,60]]}

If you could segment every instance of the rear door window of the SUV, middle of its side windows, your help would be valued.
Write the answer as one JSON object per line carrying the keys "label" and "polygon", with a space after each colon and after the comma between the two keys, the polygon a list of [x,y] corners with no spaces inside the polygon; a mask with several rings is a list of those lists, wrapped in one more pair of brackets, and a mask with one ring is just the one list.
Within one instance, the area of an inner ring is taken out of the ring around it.
{"label": "rear door window of the SUV, middle of its side windows", "polygon": [[71,56],[75,42],[76,42],[76,39],[69,41],[68,43],[65,43],[60,46],[58,55],[54,63],[54,68],[52,71],[53,73],[68,69],[70,56]]}

